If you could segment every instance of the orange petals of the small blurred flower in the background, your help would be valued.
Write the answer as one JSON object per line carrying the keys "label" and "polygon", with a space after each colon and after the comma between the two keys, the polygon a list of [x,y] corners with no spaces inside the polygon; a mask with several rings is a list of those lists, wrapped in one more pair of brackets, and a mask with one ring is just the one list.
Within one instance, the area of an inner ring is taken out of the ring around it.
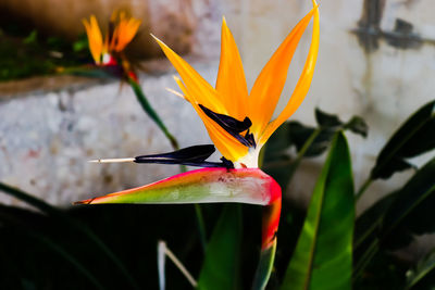
{"label": "orange petals of the small blurred flower in the background", "polygon": [[110,21],[110,28],[102,37],[95,15],[90,20],[83,20],[89,41],[89,50],[97,65],[115,63],[114,54],[121,53],[133,40],[140,26],[140,21],[128,17],[125,12],[114,12]]}

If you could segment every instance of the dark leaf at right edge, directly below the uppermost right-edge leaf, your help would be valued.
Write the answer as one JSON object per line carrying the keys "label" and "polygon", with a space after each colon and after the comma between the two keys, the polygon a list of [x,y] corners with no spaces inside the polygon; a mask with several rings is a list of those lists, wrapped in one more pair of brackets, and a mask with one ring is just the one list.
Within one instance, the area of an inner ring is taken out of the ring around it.
{"label": "dark leaf at right edge, directly below the uppermost right-edge leaf", "polygon": [[427,162],[396,194],[385,213],[383,245],[407,245],[414,235],[435,231],[435,157]]}

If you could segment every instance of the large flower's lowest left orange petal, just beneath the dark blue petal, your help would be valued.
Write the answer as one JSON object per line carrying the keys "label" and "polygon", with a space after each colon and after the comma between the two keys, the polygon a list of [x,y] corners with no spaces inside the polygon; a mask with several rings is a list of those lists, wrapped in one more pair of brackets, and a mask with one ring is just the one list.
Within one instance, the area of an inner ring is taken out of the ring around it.
{"label": "large flower's lowest left orange petal, just beneath the dark blue petal", "polygon": [[227,160],[234,162],[245,156],[248,153],[248,148],[241,144],[236,138],[231,136],[226,130],[224,130],[214,121],[206,115],[201,108],[199,108],[198,103],[191,98],[188,89],[184,86],[179,78],[175,77],[175,81],[178,84],[187,101],[189,101],[195,111],[197,111],[199,117],[202,119],[206,126],[207,131],[209,133],[210,139],[213,141],[221,154]]}

